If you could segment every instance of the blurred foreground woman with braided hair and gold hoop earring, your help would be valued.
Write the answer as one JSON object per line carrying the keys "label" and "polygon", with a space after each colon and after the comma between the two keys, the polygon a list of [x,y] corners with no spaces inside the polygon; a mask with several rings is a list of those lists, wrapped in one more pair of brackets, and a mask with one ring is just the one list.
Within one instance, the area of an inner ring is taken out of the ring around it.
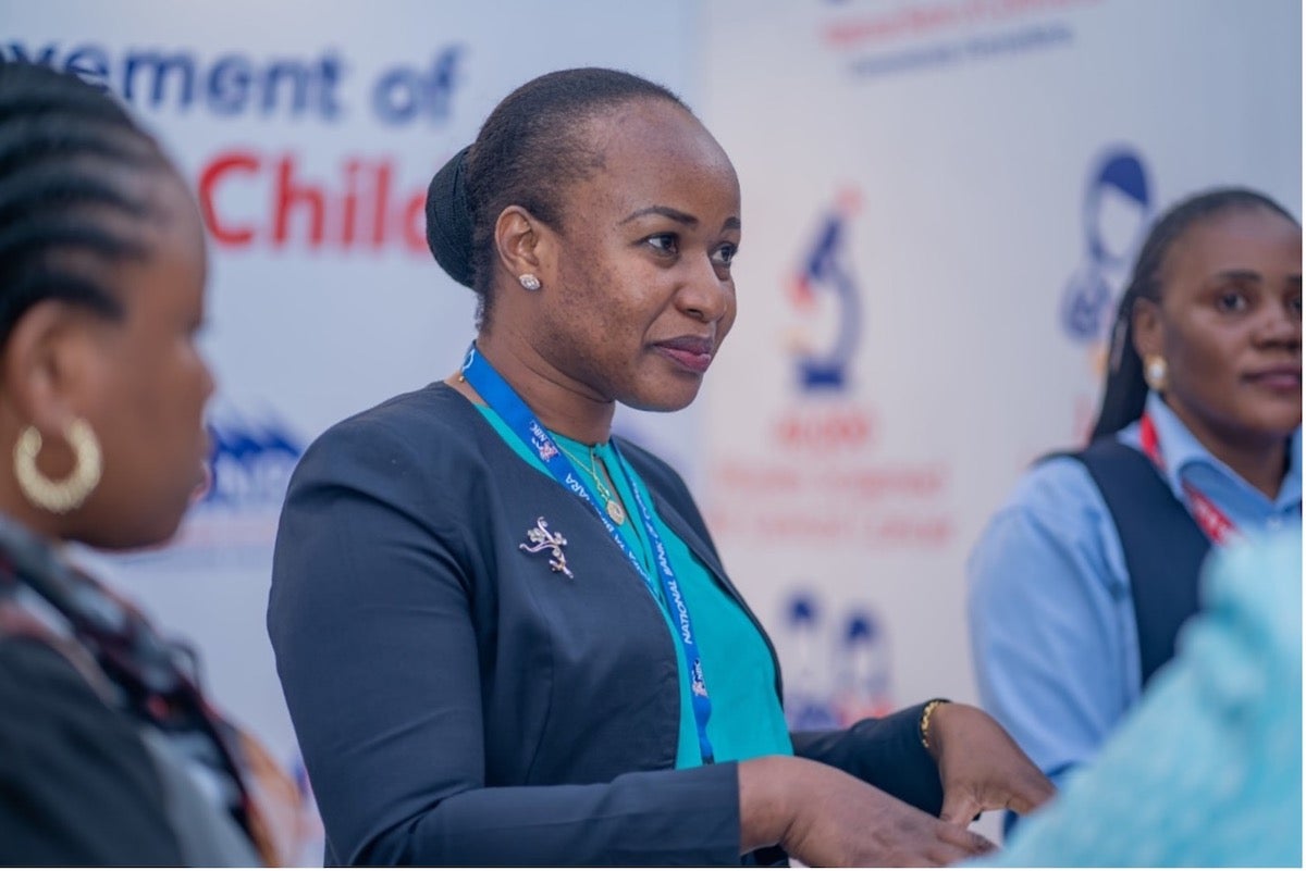
{"label": "blurred foreground woman with braided hair and gold hoop earring", "polygon": [[205,273],[159,145],[77,77],[0,64],[0,863],[283,858],[263,808],[289,781],[63,553],[163,542],[201,488]]}

